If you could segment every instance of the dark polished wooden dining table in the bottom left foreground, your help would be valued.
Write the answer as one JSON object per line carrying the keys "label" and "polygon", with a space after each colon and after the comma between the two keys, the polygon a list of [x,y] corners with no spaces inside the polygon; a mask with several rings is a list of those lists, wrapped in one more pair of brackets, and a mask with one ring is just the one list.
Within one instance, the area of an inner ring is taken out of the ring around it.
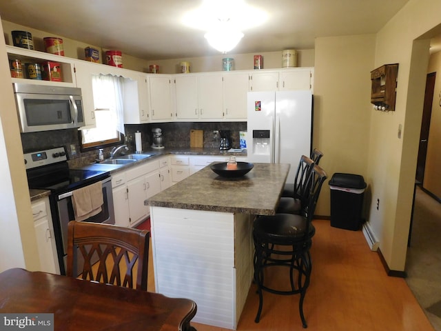
{"label": "dark polished wooden dining table in the bottom left foreground", "polygon": [[56,331],[188,331],[196,303],[14,268],[0,273],[0,314],[6,313],[53,313]]}

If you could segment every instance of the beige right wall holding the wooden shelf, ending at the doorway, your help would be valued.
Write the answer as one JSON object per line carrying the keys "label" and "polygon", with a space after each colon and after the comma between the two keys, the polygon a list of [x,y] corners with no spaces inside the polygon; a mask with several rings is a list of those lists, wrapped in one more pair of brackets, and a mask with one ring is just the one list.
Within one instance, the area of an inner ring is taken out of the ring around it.
{"label": "beige right wall holding the wooden shelf, ending at the doorway", "polygon": [[[377,34],[375,66],[399,63],[395,112],[371,112],[369,224],[391,270],[404,270],[416,158],[429,59],[429,40],[416,41],[441,23],[441,2],[410,0]],[[434,37],[426,35],[427,38]],[[398,128],[402,127],[402,137]]]}

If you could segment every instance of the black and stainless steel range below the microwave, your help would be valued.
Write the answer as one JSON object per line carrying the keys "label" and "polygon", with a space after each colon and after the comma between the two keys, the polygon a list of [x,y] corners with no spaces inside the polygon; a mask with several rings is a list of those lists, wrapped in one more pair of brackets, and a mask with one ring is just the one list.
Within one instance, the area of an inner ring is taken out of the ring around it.
{"label": "black and stainless steel range below the microwave", "polygon": [[50,210],[54,225],[55,242],[60,272],[65,274],[68,223],[74,221],[72,195],[74,190],[101,183],[103,204],[101,212],[83,221],[114,224],[112,181],[109,172],[70,169],[64,147],[25,153],[26,172],[30,188],[50,190]]}

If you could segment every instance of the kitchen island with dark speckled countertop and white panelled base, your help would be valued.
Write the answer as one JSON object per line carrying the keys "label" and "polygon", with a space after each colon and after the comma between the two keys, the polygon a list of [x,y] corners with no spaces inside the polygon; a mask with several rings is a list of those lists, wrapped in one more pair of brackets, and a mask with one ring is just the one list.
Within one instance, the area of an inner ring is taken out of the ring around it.
{"label": "kitchen island with dark speckled countertop and white panelled base", "polygon": [[225,179],[209,166],[148,200],[156,292],[196,301],[194,321],[236,330],[253,278],[252,222],[275,214],[289,164]]}

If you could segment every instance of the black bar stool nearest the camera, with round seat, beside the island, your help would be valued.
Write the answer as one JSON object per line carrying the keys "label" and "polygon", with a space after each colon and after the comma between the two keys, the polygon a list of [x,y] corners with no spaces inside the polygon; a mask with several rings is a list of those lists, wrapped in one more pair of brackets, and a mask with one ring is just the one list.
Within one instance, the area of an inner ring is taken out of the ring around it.
{"label": "black bar stool nearest the camera, with round seat, beside the island", "polygon": [[[303,301],[312,270],[312,237],[316,233],[311,221],[314,216],[318,196],[327,174],[318,165],[314,165],[309,174],[309,201],[305,215],[275,214],[258,217],[254,221],[254,282],[259,295],[259,307],[255,322],[260,321],[263,309],[263,291],[274,294],[300,294],[299,311],[303,328],[307,328],[303,314]],[[277,290],[265,283],[265,270],[274,266],[289,269],[289,290]]]}

